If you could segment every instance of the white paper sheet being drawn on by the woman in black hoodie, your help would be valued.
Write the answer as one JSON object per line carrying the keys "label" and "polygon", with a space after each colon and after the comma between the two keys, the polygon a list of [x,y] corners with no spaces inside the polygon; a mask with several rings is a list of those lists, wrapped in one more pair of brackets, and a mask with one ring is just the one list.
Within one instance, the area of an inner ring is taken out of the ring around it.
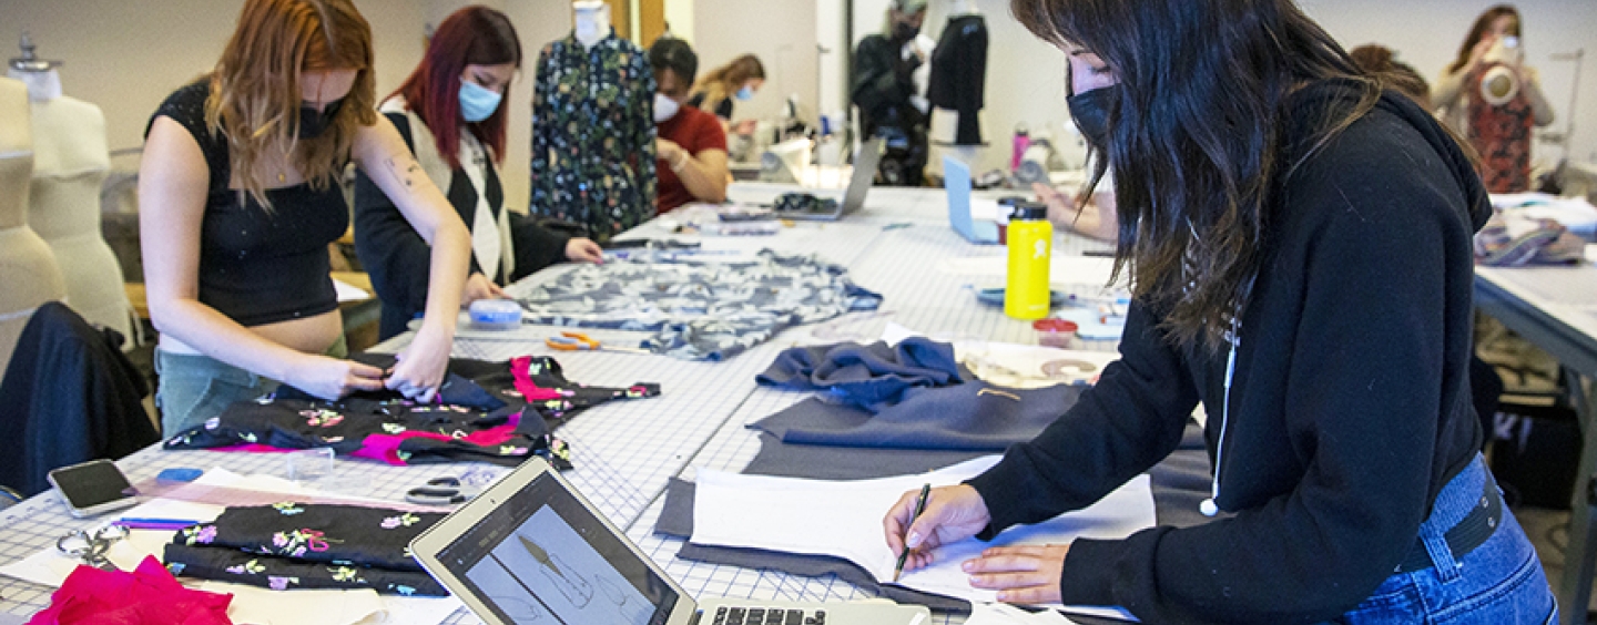
{"label": "white paper sheet being drawn on by the woman in black hoodie", "polygon": [[[878,480],[829,482],[765,475],[698,472],[693,501],[695,544],[749,547],[787,553],[845,558],[875,579],[893,577],[898,553],[882,536],[882,515],[905,491],[923,483],[947,486],[976,477],[998,462],[984,456],[921,475]],[[987,547],[1016,544],[1067,544],[1078,537],[1119,539],[1155,525],[1153,491],[1139,475],[1097,504],[1054,520],[1009,528],[992,542],[966,539],[934,552],[936,564],[905,572],[909,588],[993,603],[992,590],[971,588],[960,563]]]}

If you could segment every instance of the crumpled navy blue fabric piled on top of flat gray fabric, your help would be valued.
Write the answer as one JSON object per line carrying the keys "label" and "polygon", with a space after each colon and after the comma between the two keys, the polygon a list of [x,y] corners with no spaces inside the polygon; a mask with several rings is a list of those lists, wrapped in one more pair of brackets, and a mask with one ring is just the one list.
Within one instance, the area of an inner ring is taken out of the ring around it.
{"label": "crumpled navy blue fabric piled on top of flat gray fabric", "polygon": [[963,384],[974,379],[953,357],[953,346],[907,338],[898,346],[837,343],[783,351],[754,378],[763,386],[827,391],[870,413],[898,403],[915,387]]}

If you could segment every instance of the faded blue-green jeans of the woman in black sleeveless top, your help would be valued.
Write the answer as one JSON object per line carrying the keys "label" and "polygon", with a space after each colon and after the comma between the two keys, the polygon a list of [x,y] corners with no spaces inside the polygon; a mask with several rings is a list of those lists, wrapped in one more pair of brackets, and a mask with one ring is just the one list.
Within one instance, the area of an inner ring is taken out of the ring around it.
{"label": "faded blue-green jeans of the woman in black sleeveless top", "polygon": [[[342,359],[350,349],[339,335],[324,352]],[[155,407],[161,411],[161,437],[172,437],[222,415],[233,402],[249,402],[276,391],[278,381],[203,354],[172,354],[155,349]]]}

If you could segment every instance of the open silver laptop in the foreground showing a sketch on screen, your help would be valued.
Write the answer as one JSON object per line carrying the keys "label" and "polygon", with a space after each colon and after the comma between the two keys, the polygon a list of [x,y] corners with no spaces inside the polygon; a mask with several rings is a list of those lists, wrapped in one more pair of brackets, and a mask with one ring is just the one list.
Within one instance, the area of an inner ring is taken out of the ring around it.
{"label": "open silver laptop in the foreground showing a sketch on screen", "polygon": [[410,542],[433,577],[490,625],[929,625],[923,606],[872,599],[695,601],[541,459]]}

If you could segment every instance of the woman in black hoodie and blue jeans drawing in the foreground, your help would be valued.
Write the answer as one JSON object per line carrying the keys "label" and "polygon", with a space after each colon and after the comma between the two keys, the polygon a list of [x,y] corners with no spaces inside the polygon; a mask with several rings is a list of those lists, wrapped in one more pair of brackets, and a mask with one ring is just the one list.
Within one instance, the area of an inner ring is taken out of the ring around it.
{"label": "woman in black hoodie and blue jeans drawing in the foreground", "polygon": [[[1000,601],[1150,623],[1543,623],[1535,550],[1480,459],[1471,234],[1490,214],[1437,121],[1290,0],[1012,0],[1065,51],[1115,172],[1121,359],[1028,443],[883,518],[933,548],[1083,509],[1203,402],[1215,517],[961,563]],[[1094,182],[1096,185],[1096,182]]]}

